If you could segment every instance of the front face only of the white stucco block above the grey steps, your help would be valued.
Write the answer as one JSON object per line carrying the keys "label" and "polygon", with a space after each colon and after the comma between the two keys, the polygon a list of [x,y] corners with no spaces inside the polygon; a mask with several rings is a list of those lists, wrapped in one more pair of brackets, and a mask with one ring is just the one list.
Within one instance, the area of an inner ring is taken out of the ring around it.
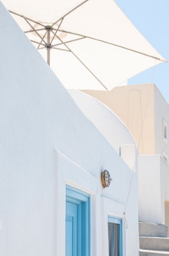
{"label": "front face only of the white stucco block above the grey steps", "polygon": [[162,223],[160,155],[140,155],[139,221]]}

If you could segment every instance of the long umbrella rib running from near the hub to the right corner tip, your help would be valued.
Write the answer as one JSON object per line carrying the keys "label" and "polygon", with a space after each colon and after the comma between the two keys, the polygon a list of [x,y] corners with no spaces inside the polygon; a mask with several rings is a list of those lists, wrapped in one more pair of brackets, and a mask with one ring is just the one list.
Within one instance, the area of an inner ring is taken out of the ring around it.
{"label": "long umbrella rib running from near the hub to the right corner tip", "polygon": [[147,56],[147,57],[150,57],[150,58],[153,58],[153,59],[156,59],[156,60],[160,60],[161,62],[168,62],[167,60],[159,59],[159,58],[154,57],[154,56],[152,56],[152,55],[145,54],[145,53],[143,53],[143,52],[139,52],[139,51],[136,51],[136,50],[133,50],[133,49],[130,49],[130,48],[126,48],[126,47],[121,46],[121,45],[119,45],[119,44],[109,43],[109,42],[107,42],[107,41],[103,41],[103,40],[100,40],[100,39],[97,39],[97,38],[94,38],[94,37],[88,37],[88,36],[86,36],[86,35],[81,35],[81,34],[69,32],[69,31],[66,31],[66,30],[60,30],[60,29],[58,29],[58,31],[60,31],[60,32],[65,32],[65,33],[67,33],[67,34],[78,35],[78,36],[80,36],[80,37],[86,37],[86,38],[89,38],[89,39],[92,39],[92,40],[95,40],[95,41],[100,41],[100,42],[102,42],[102,43],[111,44],[111,45],[113,45],[113,46],[116,46],[116,47],[119,47],[119,48],[123,48],[123,49],[128,50],[128,51],[136,52],[137,54],[142,54],[142,55],[145,55],[145,56]]}

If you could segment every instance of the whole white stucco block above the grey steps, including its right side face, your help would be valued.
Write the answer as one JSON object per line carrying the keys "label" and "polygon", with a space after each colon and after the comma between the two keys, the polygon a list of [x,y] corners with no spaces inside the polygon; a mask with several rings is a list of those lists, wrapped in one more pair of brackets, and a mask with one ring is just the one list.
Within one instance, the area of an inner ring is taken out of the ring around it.
{"label": "whole white stucco block above the grey steps, including its right side face", "polygon": [[165,201],[169,201],[168,164],[160,155],[140,155],[138,166],[139,221],[165,224]]}

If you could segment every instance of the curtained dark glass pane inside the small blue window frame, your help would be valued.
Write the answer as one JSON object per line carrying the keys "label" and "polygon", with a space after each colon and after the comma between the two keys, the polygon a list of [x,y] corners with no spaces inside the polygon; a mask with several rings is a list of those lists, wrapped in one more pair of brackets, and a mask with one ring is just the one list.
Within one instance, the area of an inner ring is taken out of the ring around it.
{"label": "curtained dark glass pane inside the small blue window frame", "polygon": [[109,256],[119,256],[119,224],[108,223]]}

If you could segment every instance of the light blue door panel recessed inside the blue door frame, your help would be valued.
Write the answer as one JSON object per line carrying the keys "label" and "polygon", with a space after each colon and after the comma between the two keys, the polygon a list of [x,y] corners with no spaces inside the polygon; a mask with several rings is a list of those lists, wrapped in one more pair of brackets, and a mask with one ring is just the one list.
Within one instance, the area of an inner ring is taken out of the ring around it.
{"label": "light blue door panel recessed inside the blue door frame", "polygon": [[66,256],[77,256],[77,204],[66,202]]}

